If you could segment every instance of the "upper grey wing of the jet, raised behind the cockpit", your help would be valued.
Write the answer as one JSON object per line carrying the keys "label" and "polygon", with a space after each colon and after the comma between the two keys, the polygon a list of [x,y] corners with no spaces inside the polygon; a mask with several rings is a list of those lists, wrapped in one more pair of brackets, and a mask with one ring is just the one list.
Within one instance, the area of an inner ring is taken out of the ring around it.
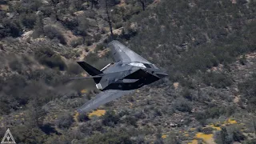
{"label": "upper grey wing of the jet, raised behind the cockpit", "polygon": [[143,62],[149,63],[145,58],[124,46],[121,42],[116,40],[109,43],[111,53],[115,62]]}

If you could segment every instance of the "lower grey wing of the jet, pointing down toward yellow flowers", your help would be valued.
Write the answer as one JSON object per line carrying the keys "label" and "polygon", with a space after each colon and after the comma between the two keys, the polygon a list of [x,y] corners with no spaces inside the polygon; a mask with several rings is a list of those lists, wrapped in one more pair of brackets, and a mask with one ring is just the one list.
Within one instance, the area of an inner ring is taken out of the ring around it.
{"label": "lower grey wing of the jet, pointing down toward yellow flowers", "polygon": [[102,106],[107,102],[111,102],[116,98],[120,98],[125,94],[130,94],[134,90],[105,90],[92,98],[89,102],[86,102],[78,109],[78,113],[86,113],[90,110],[96,109],[98,106]]}

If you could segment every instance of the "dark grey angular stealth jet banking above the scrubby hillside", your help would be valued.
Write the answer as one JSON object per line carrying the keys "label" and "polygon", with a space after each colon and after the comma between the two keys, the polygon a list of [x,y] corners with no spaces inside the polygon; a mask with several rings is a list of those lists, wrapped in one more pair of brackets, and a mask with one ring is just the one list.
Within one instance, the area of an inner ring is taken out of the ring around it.
{"label": "dark grey angular stealth jet banking above the scrubby hillside", "polygon": [[109,43],[109,47],[114,62],[108,64],[102,70],[98,70],[86,62],[78,62],[90,74],[90,77],[84,78],[93,78],[97,89],[102,90],[96,97],[81,106],[78,113],[94,110],[98,106],[168,76],[163,70],[160,70],[121,42],[114,40]]}

